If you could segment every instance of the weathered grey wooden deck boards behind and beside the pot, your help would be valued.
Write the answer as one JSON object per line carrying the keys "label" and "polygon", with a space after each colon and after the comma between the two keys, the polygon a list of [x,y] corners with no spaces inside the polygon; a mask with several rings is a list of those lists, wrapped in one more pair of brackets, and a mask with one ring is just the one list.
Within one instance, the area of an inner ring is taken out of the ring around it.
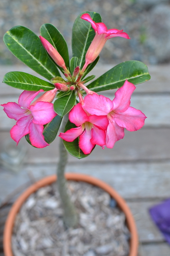
{"label": "weathered grey wooden deck boards behind and beside the pot", "polygon": [[[96,67],[89,75],[98,77],[112,67]],[[148,214],[152,205],[170,197],[170,65],[149,66],[148,69],[151,80],[137,85],[131,97],[131,106],[147,116],[145,126],[137,132],[125,131],[124,139],[113,149],[102,150],[97,146],[89,157],[81,160],[69,156],[67,172],[86,173],[102,179],[127,200],[141,243],[138,256],[170,256],[170,246]],[[22,71],[44,79],[26,66],[9,66],[0,67],[0,80],[9,71]],[[17,102],[20,93],[21,90],[1,84],[1,104]],[[115,90],[101,92],[111,99],[114,93]],[[9,131],[14,124],[15,120],[9,119],[0,108],[0,152],[5,141],[10,139]],[[56,138],[50,147],[36,149],[22,139],[21,143],[27,147],[25,164],[18,174],[0,169],[0,201],[28,182],[29,175],[39,179],[55,173],[59,160],[58,140]]]}

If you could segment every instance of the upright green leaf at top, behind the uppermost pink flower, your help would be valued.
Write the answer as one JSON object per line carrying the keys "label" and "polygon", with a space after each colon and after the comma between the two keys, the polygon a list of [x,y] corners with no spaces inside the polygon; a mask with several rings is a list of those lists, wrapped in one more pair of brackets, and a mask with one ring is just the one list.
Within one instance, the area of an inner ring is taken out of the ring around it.
{"label": "upright green leaf at top, behind the uppermost pink flower", "polygon": [[82,20],[80,17],[83,13],[89,13],[90,17],[95,22],[102,22],[102,18],[99,13],[96,12],[82,12],[74,22],[72,31],[72,50],[73,57],[78,58],[77,66],[83,67],[85,63],[86,52],[95,37],[95,30],[91,24]]}

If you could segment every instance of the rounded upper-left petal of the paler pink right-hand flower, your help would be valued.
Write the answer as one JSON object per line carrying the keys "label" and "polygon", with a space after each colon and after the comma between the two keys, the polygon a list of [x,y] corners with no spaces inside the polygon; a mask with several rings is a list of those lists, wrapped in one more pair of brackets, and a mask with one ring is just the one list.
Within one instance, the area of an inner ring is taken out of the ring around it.
{"label": "rounded upper-left petal of the paler pink right-hand flower", "polygon": [[106,116],[113,108],[113,102],[103,95],[89,94],[84,97],[82,105],[91,115]]}

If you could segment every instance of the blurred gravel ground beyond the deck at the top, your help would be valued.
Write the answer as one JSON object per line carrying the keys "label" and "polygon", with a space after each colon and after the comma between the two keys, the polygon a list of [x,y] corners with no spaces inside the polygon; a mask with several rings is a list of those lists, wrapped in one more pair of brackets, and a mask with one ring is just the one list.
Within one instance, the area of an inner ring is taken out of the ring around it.
{"label": "blurred gravel ground beyond the deck at the top", "polygon": [[[11,27],[23,25],[39,35],[44,23],[52,23],[65,37],[71,55],[71,31],[84,11],[99,12],[108,28],[124,29],[132,38],[112,38],[101,52],[101,63],[141,60],[156,64],[170,61],[169,0],[1,0],[0,37]],[[18,60],[0,40],[0,63]]]}

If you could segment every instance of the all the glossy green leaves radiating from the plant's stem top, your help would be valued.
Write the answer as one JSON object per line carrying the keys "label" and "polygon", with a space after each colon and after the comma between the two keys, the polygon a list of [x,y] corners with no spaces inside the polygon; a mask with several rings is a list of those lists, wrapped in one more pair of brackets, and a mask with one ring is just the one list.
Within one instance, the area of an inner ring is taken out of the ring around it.
{"label": "all the glossy green leaves radiating from the plant's stem top", "polygon": [[[73,58],[70,61],[67,43],[59,30],[48,23],[42,25],[40,28],[41,36],[46,38],[60,53],[71,74],[73,74],[74,68],[77,66],[80,66],[80,68],[83,67],[86,52],[95,36],[95,31],[91,27],[91,24],[80,19],[80,16],[83,13],[81,13],[74,22],[72,31]],[[89,13],[95,22],[102,22],[100,14],[96,12],[86,13]],[[15,26],[11,28],[4,35],[4,43],[19,60],[47,80],[50,81],[53,77],[61,77],[61,74],[63,73],[62,68],[53,61],[44,49],[39,37],[29,28],[23,26]],[[99,56],[87,67],[86,72],[82,76],[82,81],[85,81],[84,83],[95,78],[93,75],[86,76],[95,67],[98,60]],[[120,63],[96,80],[92,81],[87,87],[94,92],[117,89],[124,84],[126,79],[133,84],[141,84],[149,80],[150,75],[146,65],[135,60]],[[54,88],[54,85],[51,82],[19,71],[7,73],[4,76],[3,82],[20,90],[28,91],[39,91],[40,89],[49,91]],[[55,139],[60,128],[62,117],[76,104],[76,94],[74,91],[59,92],[56,98],[57,99],[54,102],[54,111],[58,115],[44,127],[43,135],[47,143],[51,143]],[[65,131],[74,127],[75,125],[68,121]],[[26,135],[26,140],[31,143],[29,135]],[[77,138],[73,142],[64,141],[64,145],[71,155],[80,159],[88,155],[83,154],[79,148],[78,140],[79,139]]]}

